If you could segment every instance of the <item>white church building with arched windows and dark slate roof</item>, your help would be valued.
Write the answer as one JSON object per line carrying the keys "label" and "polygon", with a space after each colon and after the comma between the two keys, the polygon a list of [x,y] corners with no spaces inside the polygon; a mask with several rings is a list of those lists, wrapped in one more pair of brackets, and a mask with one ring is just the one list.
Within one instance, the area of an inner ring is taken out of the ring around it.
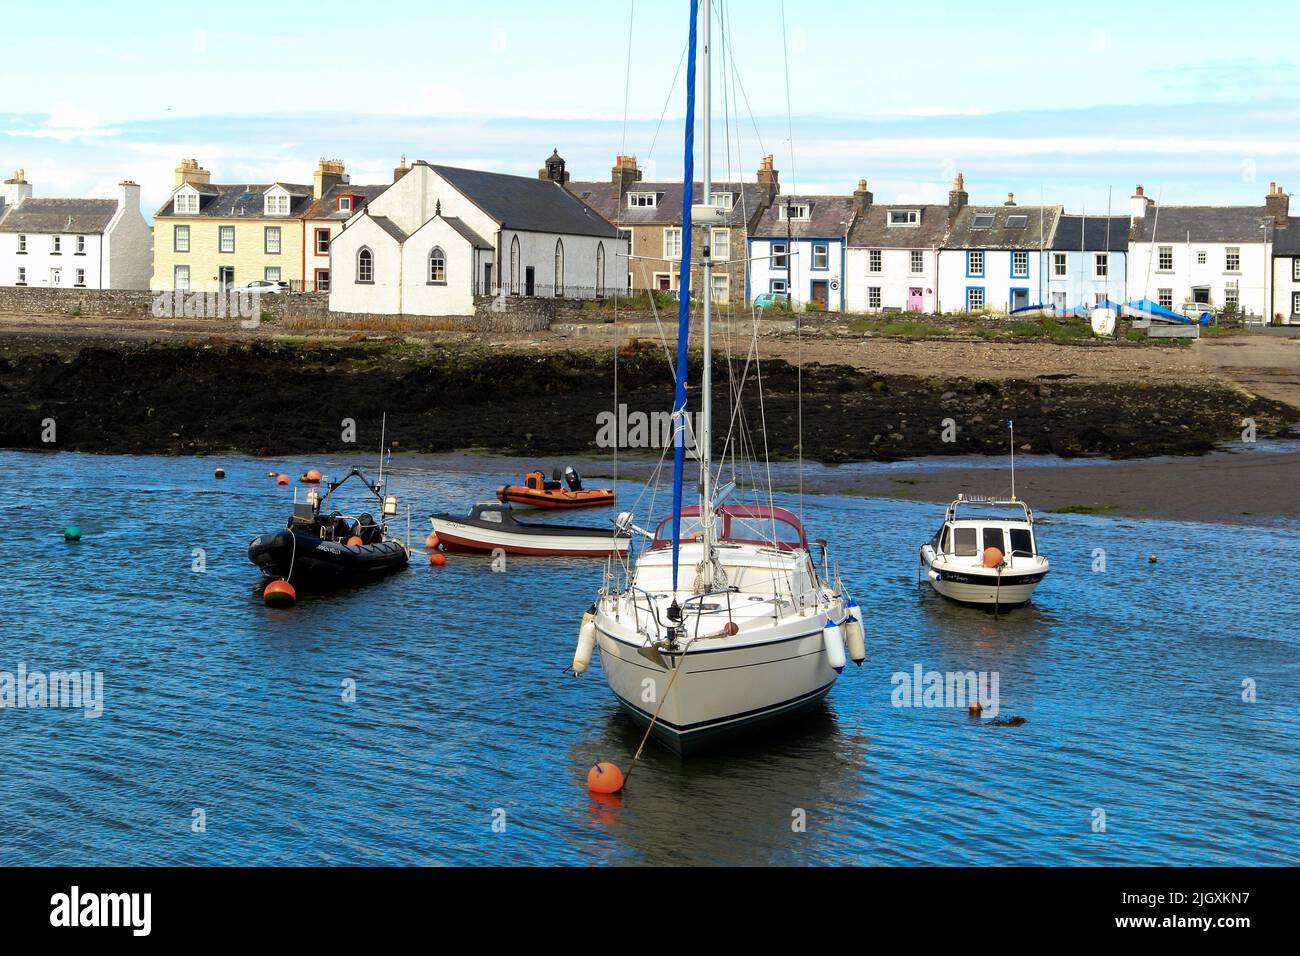
{"label": "white church building with arched windows and dark slate roof", "polygon": [[330,242],[330,311],[472,315],[476,295],[625,290],[627,241],[564,189],[563,161],[547,166],[530,178],[413,163]]}

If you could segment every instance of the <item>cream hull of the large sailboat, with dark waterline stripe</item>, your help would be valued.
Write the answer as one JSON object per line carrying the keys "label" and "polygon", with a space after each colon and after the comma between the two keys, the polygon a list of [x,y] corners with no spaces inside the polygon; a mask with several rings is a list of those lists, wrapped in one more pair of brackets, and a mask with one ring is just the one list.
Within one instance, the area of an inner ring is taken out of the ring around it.
{"label": "cream hull of the large sailboat, with dark waterline stripe", "polygon": [[[632,721],[646,727],[658,709],[653,736],[686,756],[822,705],[838,674],[828,662],[820,619],[792,620],[788,633],[770,633],[762,643],[663,654],[668,667],[598,627],[601,667]],[[685,670],[673,682],[679,667]]]}

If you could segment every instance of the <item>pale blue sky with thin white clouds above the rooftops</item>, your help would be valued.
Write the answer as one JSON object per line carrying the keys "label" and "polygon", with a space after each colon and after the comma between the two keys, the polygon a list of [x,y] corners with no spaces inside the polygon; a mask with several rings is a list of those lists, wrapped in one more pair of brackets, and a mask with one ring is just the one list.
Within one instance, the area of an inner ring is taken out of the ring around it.
{"label": "pale blue sky with thin white clouds above the rooftops", "polygon": [[[680,177],[686,9],[230,0],[191,18],[47,0],[39,22],[58,29],[5,43],[0,170],[25,168],[38,195],[133,178],[151,208],[182,156],[221,182],[309,182],[322,156],[384,182],[403,153],[536,174],[558,147],[575,178],[606,178],[625,150],[647,178]],[[961,170],[972,202],[1089,213],[1123,211],[1136,183],[1166,203],[1300,189],[1291,4],[785,0],[784,57],[780,0],[715,9],[732,25],[719,174],[771,152],[786,191],[864,177],[878,202],[915,202]]]}

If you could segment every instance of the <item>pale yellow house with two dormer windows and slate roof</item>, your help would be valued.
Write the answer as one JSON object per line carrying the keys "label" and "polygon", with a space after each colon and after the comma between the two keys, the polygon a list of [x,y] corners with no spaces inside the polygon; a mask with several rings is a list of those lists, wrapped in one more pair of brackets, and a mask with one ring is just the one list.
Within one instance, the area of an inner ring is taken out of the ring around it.
{"label": "pale yellow house with two dormer windows and slate roof", "polygon": [[225,291],[283,281],[302,289],[303,215],[315,199],[313,187],[218,185],[211,178],[198,160],[181,160],[176,189],[153,213],[150,287]]}

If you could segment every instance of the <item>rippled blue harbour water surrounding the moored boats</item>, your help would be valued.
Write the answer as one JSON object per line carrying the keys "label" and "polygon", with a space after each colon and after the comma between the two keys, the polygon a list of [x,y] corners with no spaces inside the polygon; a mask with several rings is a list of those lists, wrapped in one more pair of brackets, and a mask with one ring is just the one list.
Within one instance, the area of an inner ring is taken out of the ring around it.
{"label": "rippled blue harbour water surrounding the moored boats", "polygon": [[[514,477],[395,464],[420,537],[428,511]],[[104,674],[99,718],[0,710],[0,864],[1300,858],[1294,531],[1053,518],[1052,576],[994,619],[915,588],[941,509],[809,497],[811,536],[831,538],[866,606],[866,665],[776,739],[686,762],[649,747],[604,804],[586,769],[625,767],[640,734],[598,662],[562,674],[598,566],[520,558],[493,574],[486,558],[417,555],[268,610],[244,550],[291,492],[266,471],[308,466],[346,460],[0,453],[0,671]],[[83,541],[62,541],[68,523]],[[890,706],[890,675],[918,663],[996,671],[1001,715],[1027,723]]]}

